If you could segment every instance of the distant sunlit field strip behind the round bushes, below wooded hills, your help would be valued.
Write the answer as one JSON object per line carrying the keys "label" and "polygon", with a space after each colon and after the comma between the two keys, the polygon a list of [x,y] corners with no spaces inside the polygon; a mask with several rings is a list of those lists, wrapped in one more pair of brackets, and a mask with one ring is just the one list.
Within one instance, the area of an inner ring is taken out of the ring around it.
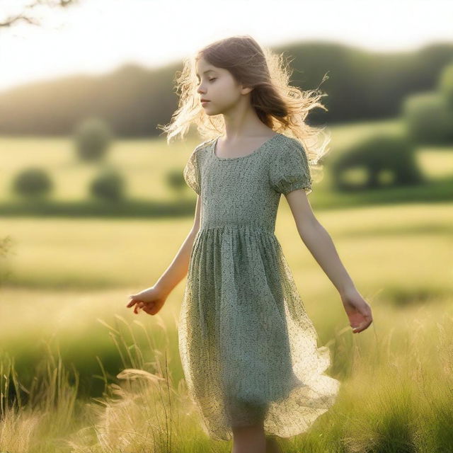
{"label": "distant sunlit field strip behind the round bushes, below wooded hills", "polygon": [[[331,134],[329,154],[343,152],[352,142],[372,132],[398,133],[402,127],[399,120],[331,127],[328,129]],[[172,202],[181,196],[190,199],[193,195],[190,188],[184,188],[182,193],[169,190],[166,174],[171,170],[182,171],[190,152],[199,142],[200,139],[185,139],[168,145],[164,136],[158,139],[122,139],[113,142],[105,165],[121,171],[126,180],[127,197],[133,200]],[[0,137],[0,159],[0,205],[18,200],[11,193],[11,182],[28,166],[38,166],[49,173],[55,183],[50,199],[57,202],[86,200],[88,183],[98,171],[95,164],[84,164],[76,159],[73,144],[66,137]],[[417,150],[417,159],[427,178],[451,183],[451,149],[423,147]],[[390,198],[394,197],[391,190],[388,193]],[[362,196],[366,197],[366,194]],[[322,180],[316,182],[311,197],[323,207],[336,206],[336,201],[342,198],[340,194],[331,192],[328,171],[323,173]],[[378,197],[385,199],[384,193]]]}

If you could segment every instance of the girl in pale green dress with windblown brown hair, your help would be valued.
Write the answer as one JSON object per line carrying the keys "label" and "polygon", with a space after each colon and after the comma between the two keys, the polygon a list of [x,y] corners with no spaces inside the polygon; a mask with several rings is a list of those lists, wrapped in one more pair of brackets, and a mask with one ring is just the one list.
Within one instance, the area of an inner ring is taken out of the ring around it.
{"label": "girl in pale green dress with windblown brown hair", "polygon": [[[309,429],[330,408],[339,382],[318,348],[274,235],[281,194],[299,235],[338,289],[354,333],[372,323],[307,195],[321,152],[302,145],[320,96],[289,86],[279,58],[253,38],[214,42],[180,75],[180,108],[169,137],[196,122],[211,139],[190,155],[183,175],[197,193],[193,228],[153,287],[128,307],[154,315],[188,274],[178,327],[188,391],[205,432],[233,438],[233,453],[281,452],[276,437]],[[219,133],[220,132],[220,133]],[[267,434],[267,436],[266,436]],[[273,437],[272,437],[273,436]]]}

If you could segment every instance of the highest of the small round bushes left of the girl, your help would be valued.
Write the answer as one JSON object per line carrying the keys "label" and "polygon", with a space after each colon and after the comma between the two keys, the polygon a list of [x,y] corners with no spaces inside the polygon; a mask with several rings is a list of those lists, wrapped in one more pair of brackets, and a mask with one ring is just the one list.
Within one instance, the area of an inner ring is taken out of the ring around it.
{"label": "highest of the small round bushes left of the girl", "polygon": [[74,133],[76,153],[82,161],[101,161],[112,141],[110,127],[99,118],[84,120]]}

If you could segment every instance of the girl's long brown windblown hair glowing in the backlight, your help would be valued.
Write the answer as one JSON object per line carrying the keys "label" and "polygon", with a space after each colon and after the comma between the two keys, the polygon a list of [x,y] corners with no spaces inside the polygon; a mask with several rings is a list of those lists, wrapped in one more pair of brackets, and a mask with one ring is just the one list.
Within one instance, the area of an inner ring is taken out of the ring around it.
{"label": "girl's long brown windblown hair glowing in the backlight", "polygon": [[[289,85],[292,71],[289,71],[282,55],[260,47],[249,35],[218,40],[185,59],[183,71],[178,71],[176,77],[177,93],[180,91],[178,110],[173,113],[171,122],[161,128],[168,133],[168,143],[178,134],[183,138],[192,124],[205,140],[224,133],[223,116],[207,115],[199,101],[195,64],[201,57],[214,67],[227,69],[237,83],[253,87],[251,105],[260,120],[275,132],[302,142],[309,164],[314,168],[318,166],[321,156],[328,152],[326,147],[330,136],[327,134],[319,144],[319,135],[325,134],[325,127],[309,126],[304,120],[312,108],[328,110],[320,102],[321,97],[327,95],[319,88],[301,91]],[[328,79],[326,75],[321,83],[325,79]]]}

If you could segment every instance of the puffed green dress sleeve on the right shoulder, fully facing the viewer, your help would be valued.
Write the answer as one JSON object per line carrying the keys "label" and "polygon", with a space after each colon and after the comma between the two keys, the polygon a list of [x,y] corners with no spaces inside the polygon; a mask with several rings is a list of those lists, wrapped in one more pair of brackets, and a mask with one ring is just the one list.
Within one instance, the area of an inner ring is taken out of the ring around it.
{"label": "puffed green dress sleeve on the right shoulder, fully facing the viewer", "polygon": [[287,195],[303,188],[308,195],[312,179],[304,147],[297,139],[291,139],[277,151],[270,164],[270,185],[278,193]]}

